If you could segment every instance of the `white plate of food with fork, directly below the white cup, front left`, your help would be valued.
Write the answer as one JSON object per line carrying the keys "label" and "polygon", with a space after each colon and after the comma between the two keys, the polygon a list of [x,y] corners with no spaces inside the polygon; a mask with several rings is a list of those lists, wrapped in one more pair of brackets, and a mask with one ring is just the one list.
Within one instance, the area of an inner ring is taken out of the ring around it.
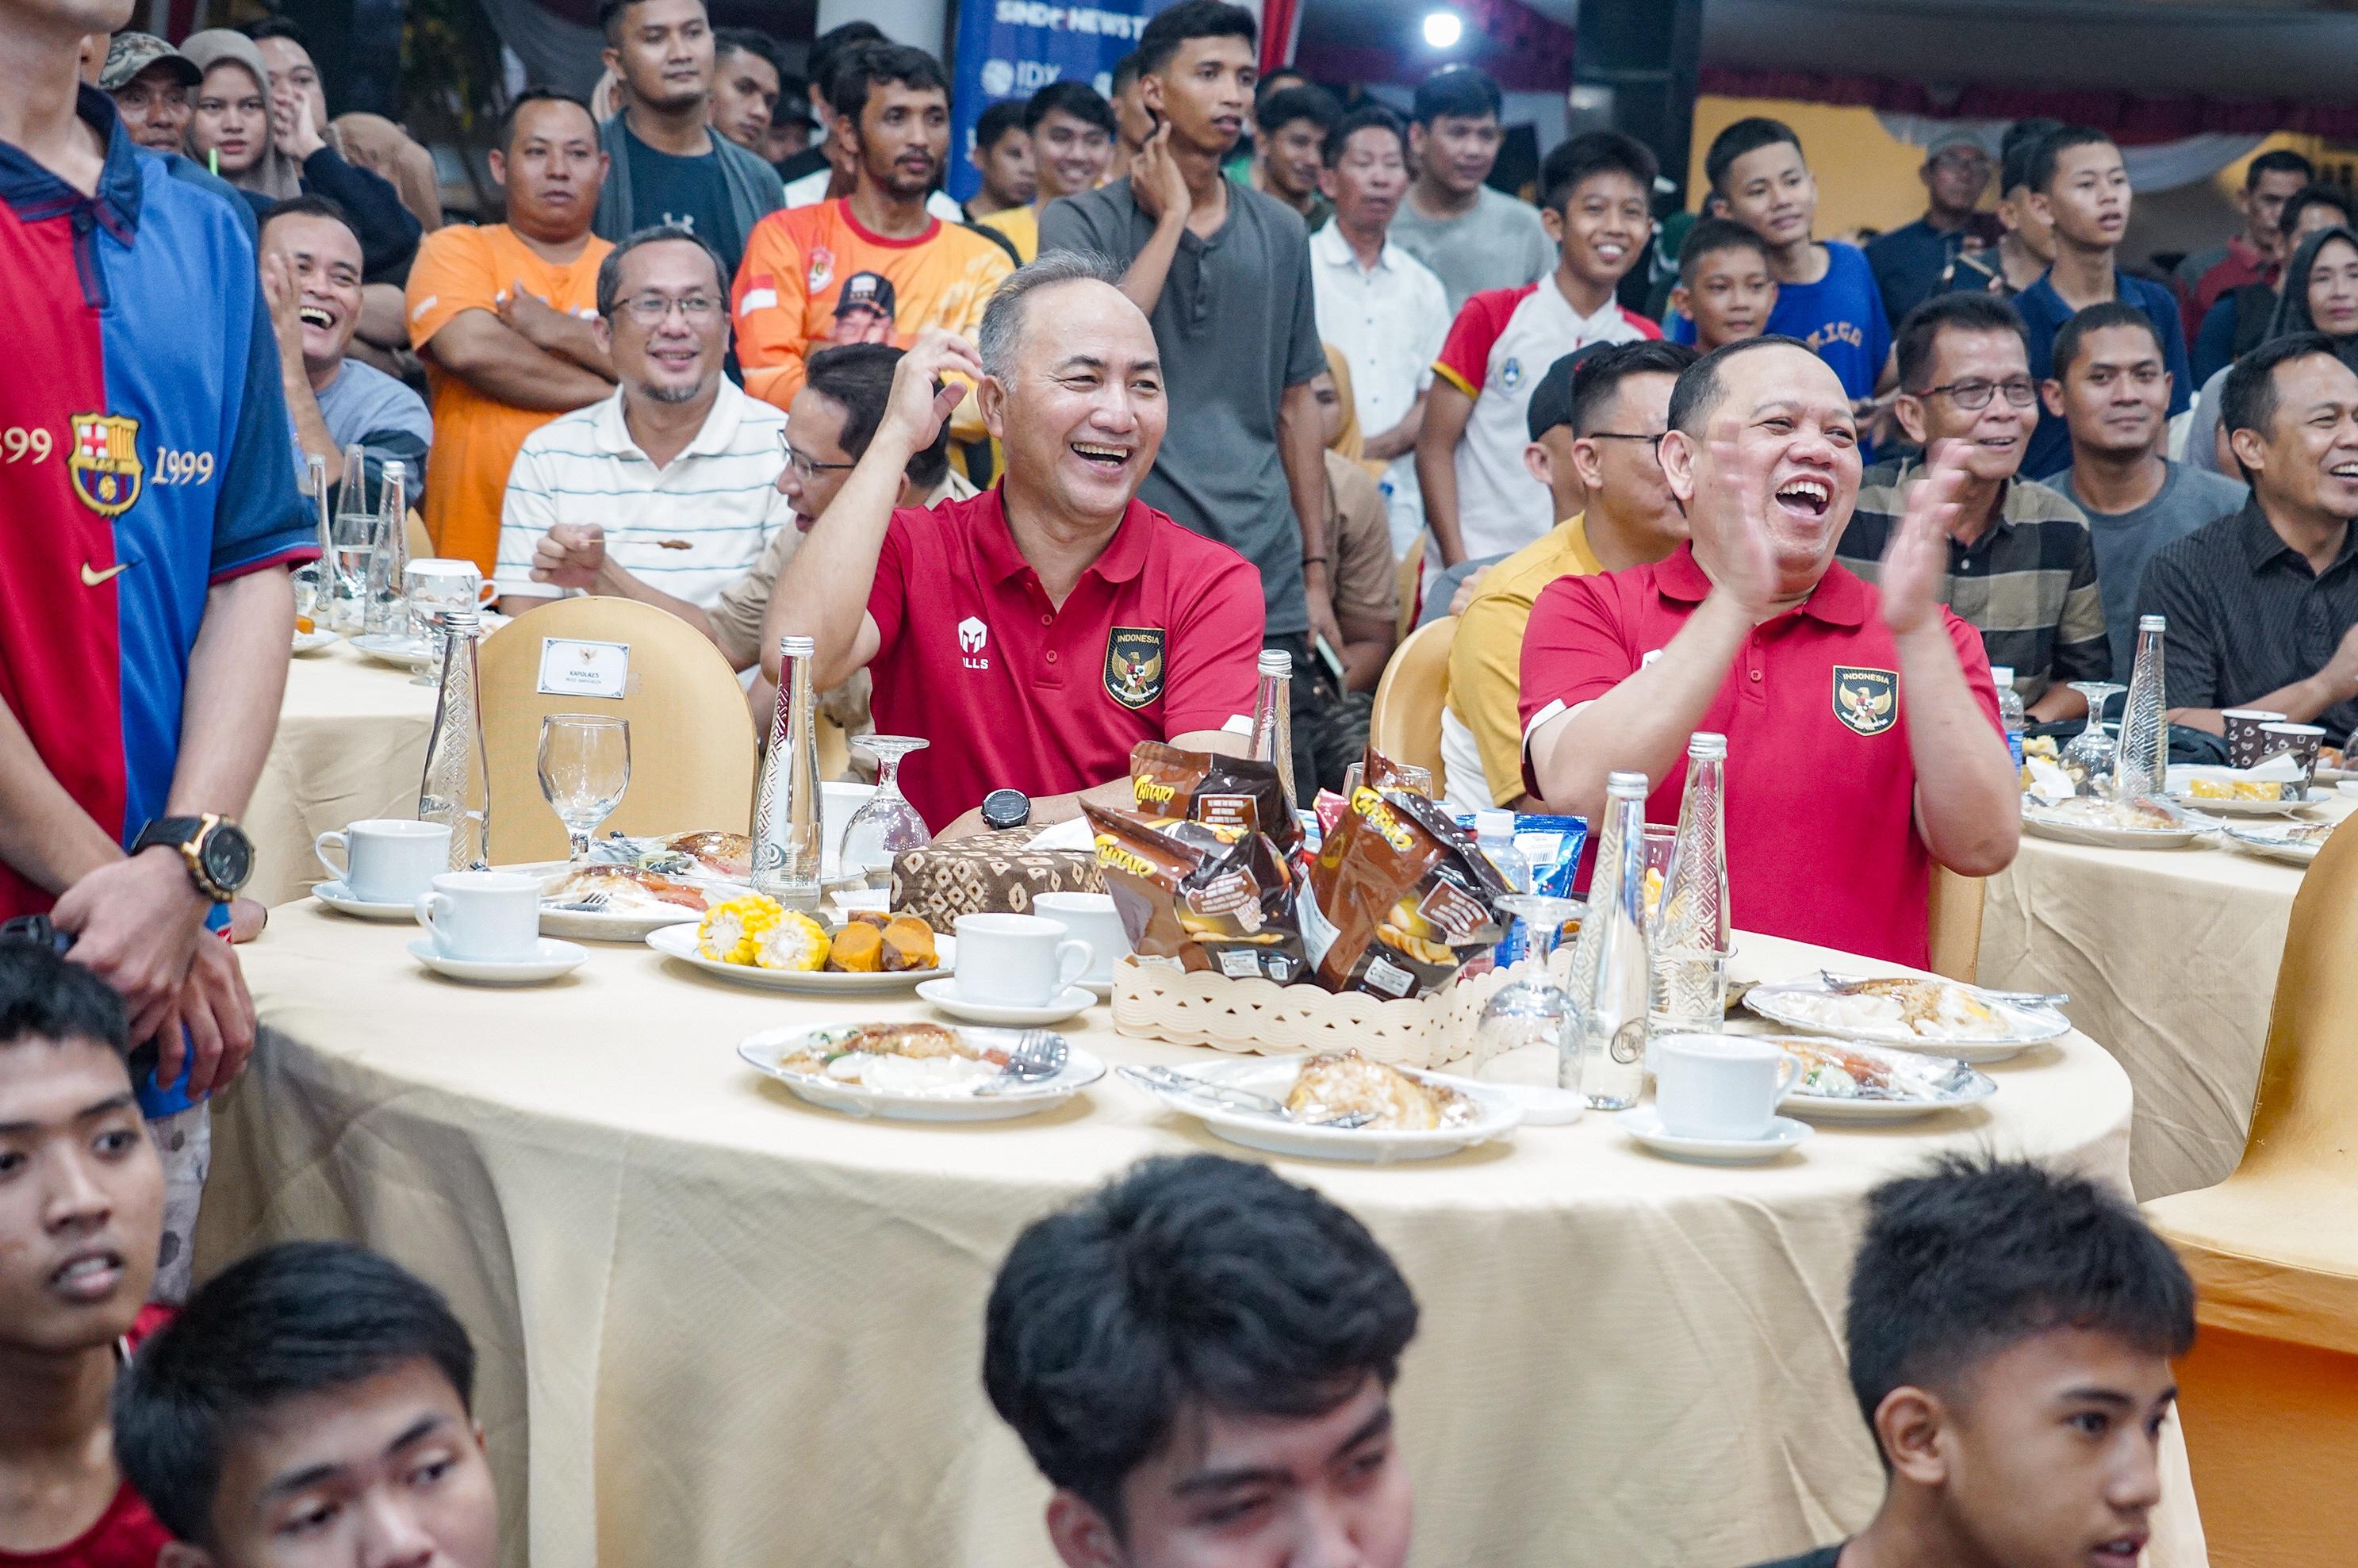
{"label": "white plate of food with fork, directly below the white cup, front left", "polygon": [[[839,1023],[766,1028],[738,1045],[755,1068],[797,1099],[847,1115],[903,1122],[1002,1122],[1059,1106],[1106,1075],[1106,1063],[1066,1047],[1047,1078],[1007,1082],[1000,1068],[1019,1033],[943,1023]],[[988,1092],[976,1092],[993,1085]]]}

